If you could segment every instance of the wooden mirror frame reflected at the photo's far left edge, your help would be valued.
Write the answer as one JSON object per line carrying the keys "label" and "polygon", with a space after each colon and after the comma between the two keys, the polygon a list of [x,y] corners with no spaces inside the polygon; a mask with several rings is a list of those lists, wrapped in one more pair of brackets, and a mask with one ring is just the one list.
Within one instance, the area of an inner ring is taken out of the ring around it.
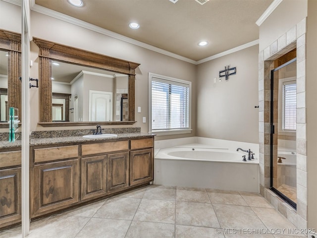
{"label": "wooden mirror frame reflected at the photo's far left edge", "polygon": [[[8,56],[8,107],[19,110],[21,120],[21,34],[0,29],[0,49],[7,51]],[[6,122],[0,122],[0,128],[9,127]]]}

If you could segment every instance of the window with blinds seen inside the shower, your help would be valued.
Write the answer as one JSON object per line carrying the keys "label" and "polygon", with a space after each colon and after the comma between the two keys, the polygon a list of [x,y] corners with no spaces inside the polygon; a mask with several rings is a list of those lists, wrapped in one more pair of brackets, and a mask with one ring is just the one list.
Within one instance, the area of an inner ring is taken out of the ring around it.
{"label": "window with blinds seen inside the shower", "polygon": [[283,130],[296,130],[296,81],[283,82]]}

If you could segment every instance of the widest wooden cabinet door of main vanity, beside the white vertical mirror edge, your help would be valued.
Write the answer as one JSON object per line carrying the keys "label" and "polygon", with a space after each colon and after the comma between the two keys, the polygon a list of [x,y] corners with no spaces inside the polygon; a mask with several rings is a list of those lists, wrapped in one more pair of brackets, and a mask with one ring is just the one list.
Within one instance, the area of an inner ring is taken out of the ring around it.
{"label": "widest wooden cabinet door of main vanity, beside the white vertical mirror edge", "polygon": [[78,182],[78,159],[35,165],[33,191],[31,191],[32,217],[44,215],[78,202]]}

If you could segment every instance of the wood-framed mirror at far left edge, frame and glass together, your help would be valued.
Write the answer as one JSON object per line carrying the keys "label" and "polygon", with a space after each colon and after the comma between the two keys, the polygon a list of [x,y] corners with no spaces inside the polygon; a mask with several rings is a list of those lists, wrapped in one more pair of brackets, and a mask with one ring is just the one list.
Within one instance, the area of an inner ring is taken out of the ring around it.
{"label": "wood-framed mirror at far left edge, frame and glass together", "polygon": [[0,29],[0,127],[8,127],[8,108],[21,120],[21,34]]}

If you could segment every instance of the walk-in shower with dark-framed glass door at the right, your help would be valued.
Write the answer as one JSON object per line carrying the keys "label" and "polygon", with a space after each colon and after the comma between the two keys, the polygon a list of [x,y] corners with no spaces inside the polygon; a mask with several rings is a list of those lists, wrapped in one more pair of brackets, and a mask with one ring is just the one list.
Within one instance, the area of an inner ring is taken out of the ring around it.
{"label": "walk-in shower with dark-framed glass door at the right", "polygon": [[270,187],[296,208],[296,50],[274,64],[270,94]]}

